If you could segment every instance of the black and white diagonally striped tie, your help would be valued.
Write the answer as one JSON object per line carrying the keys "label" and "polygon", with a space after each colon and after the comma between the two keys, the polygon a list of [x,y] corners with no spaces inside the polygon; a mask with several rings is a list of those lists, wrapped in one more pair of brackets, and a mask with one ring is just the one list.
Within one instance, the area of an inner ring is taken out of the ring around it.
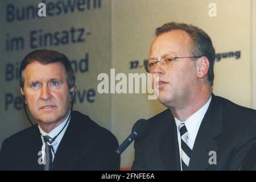
{"label": "black and white diagonally striped tie", "polygon": [[181,123],[179,125],[180,130],[180,137],[181,137],[181,164],[182,164],[182,170],[187,171],[189,160],[191,157],[192,150],[189,147],[188,143],[188,130],[185,126],[185,123]]}

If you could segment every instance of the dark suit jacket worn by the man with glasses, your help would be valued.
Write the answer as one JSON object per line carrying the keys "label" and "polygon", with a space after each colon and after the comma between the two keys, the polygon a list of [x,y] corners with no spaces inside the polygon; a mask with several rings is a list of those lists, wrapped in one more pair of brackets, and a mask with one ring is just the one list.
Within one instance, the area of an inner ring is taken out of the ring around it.
{"label": "dark suit jacket worn by the man with glasses", "polygon": [[[167,109],[148,122],[148,134],[135,140],[132,169],[180,170],[177,127],[171,111]],[[196,136],[189,170],[237,170],[255,138],[256,111],[212,94]],[[209,164],[209,151],[216,151],[217,164]]]}

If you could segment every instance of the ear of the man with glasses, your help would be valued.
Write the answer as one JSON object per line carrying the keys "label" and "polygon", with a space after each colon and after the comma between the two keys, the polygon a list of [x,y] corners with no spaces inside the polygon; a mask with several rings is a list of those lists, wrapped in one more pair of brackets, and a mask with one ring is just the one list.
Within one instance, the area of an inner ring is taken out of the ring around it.
{"label": "ear of the man with glasses", "polygon": [[198,60],[196,60],[198,78],[204,78],[205,76],[207,76],[209,65],[210,62],[206,56],[202,56]]}

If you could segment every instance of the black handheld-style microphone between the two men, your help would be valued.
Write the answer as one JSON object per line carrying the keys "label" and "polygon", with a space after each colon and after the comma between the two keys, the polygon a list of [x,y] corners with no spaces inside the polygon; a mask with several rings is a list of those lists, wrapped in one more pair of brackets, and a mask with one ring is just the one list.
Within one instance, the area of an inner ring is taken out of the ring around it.
{"label": "black handheld-style microphone between the two men", "polygon": [[123,143],[115,150],[115,152],[119,155],[133,142],[133,140],[137,137],[144,137],[148,131],[148,122],[146,119],[139,119],[131,130],[131,134],[123,141]]}

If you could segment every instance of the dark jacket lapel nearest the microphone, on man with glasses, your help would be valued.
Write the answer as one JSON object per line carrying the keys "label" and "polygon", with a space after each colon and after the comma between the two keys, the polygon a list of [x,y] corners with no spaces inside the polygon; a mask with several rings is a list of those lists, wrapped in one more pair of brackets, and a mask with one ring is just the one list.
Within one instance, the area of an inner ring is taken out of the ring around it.
{"label": "dark jacket lapel nearest the microphone, on man with glasses", "polygon": [[168,110],[163,119],[166,125],[163,126],[164,132],[160,139],[160,155],[164,168],[168,171],[180,170],[179,145],[177,143],[177,128],[171,111]]}

